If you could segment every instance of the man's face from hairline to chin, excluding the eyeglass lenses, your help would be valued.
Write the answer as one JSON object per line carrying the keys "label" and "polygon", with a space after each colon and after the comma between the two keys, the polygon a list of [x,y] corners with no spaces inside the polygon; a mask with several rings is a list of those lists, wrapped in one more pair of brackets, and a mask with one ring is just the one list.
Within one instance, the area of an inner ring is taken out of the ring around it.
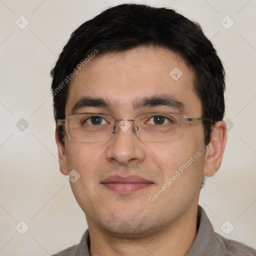
{"label": "man's face from hairline to chin, excluding the eyeglass lenses", "polygon": [[[176,72],[170,73],[173,68]],[[81,105],[72,112],[85,96],[103,98],[111,105]],[[134,108],[134,102],[154,96],[169,96],[183,107],[158,102]],[[176,53],[148,47],[92,59],[72,79],[65,107],[66,116],[96,112],[116,119],[161,111],[202,115],[193,72]],[[65,146],[58,143],[60,169],[63,174],[75,169],[80,175],[70,185],[89,228],[137,238],[170,227],[197,205],[205,163],[203,142],[201,123],[186,124],[181,139],[167,142],[141,141],[132,126],[126,131],[119,128],[104,142],[76,142],[65,134]]]}

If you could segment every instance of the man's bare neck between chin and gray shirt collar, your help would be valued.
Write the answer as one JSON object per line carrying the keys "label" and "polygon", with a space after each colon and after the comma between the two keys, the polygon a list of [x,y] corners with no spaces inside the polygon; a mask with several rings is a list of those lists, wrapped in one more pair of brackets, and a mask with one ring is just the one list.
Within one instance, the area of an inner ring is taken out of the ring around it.
{"label": "man's bare neck between chin and gray shirt collar", "polygon": [[163,228],[160,232],[137,240],[123,239],[99,229],[87,218],[91,256],[184,256],[196,236],[197,206]]}

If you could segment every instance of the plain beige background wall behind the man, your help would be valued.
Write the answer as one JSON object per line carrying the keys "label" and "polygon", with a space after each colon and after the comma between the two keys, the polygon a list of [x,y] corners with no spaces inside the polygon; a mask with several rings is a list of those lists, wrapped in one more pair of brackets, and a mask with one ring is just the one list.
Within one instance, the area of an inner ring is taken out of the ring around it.
{"label": "plain beige background wall behind the man", "polygon": [[[78,25],[123,2],[0,0],[0,255],[49,255],[77,243],[86,228],[58,170],[49,71]],[[256,248],[256,1],[135,2],[173,7],[199,22],[224,63],[228,141],[199,203],[216,232]],[[24,29],[15,23],[25,24],[21,15],[29,21]],[[226,15],[234,21],[229,29]],[[23,235],[15,229],[21,220],[29,226]],[[228,235],[220,228],[226,220],[234,226]]]}

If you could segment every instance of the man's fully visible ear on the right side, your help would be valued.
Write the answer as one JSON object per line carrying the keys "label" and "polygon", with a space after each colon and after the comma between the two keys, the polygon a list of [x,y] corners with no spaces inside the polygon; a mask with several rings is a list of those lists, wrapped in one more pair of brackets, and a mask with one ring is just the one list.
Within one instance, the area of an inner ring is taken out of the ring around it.
{"label": "man's fully visible ear on the right side", "polygon": [[225,144],[226,124],[224,121],[218,121],[211,131],[211,139],[206,146],[203,175],[210,177],[219,169]]}

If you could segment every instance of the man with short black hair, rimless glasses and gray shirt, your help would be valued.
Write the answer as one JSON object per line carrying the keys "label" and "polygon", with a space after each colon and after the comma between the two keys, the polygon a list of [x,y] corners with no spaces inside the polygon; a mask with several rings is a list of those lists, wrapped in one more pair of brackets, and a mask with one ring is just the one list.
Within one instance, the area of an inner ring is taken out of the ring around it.
{"label": "man with short black hair, rimless glasses and gray shirt", "polygon": [[55,255],[256,255],[198,206],[226,142],[224,70],[198,24],[117,5],[72,33],[51,75],[60,171],[88,223]]}

